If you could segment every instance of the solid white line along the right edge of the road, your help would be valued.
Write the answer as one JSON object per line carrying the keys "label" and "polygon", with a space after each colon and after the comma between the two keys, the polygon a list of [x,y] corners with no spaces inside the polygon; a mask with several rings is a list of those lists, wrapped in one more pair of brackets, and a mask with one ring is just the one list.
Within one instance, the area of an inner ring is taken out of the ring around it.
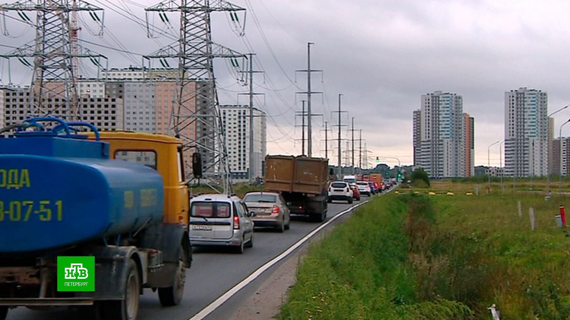
{"label": "solid white line along the right edge of the road", "polygon": [[[393,189],[392,189],[393,190]],[[389,190],[388,192],[391,192],[392,190]],[[386,193],[388,193],[386,192]],[[243,279],[241,282],[239,282],[237,285],[233,286],[231,289],[227,290],[226,293],[222,294],[221,296],[219,296],[216,300],[214,300],[213,302],[211,302],[209,305],[205,306],[204,309],[200,310],[200,312],[198,312],[197,314],[194,314],[194,316],[192,318],[189,318],[188,320],[202,320],[203,318],[206,318],[207,315],[209,315],[210,313],[212,313],[212,311],[214,311],[215,309],[217,309],[219,306],[221,306],[224,302],[228,301],[231,297],[234,296],[234,294],[236,294],[239,290],[245,288],[245,286],[249,285],[251,282],[253,282],[257,277],[259,277],[264,271],[266,271],[267,269],[271,268],[272,266],[274,266],[277,262],[279,262],[280,260],[282,260],[284,257],[287,257],[291,252],[295,251],[295,249],[299,248],[301,245],[303,245],[304,243],[307,242],[307,240],[311,239],[312,236],[314,236],[317,232],[321,231],[322,229],[324,229],[325,227],[327,227],[327,225],[331,224],[332,221],[335,221],[336,219],[340,218],[341,216],[347,214],[348,212],[351,212],[352,210],[355,210],[356,208],[362,206],[363,204],[369,202],[370,200],[366,200],[365,202],[361,202],[359,204],[356,204],[355,206],[352,206],[350,208],[348,208],[347,210],[341,211],[338,214],[336,214],[335,216],[333,216],[331,219],[329,219],[328,221],[326,221],[325,223],[319,225],[319,227],[315,228],[313,231],[309,232],[306,236],[302,237],[299,241],[297,241],[295,244],[291,245],[291,247],[289,247],[286,251],[283,251],[283,253],[281,253],[279,256],[276,256],[275,258],[271,259],[270,261],[266,262],[266,264],[260,266],[257,270],[255,270],[253,273],[251,273],[249,276],[247,276],[245,279]]]}

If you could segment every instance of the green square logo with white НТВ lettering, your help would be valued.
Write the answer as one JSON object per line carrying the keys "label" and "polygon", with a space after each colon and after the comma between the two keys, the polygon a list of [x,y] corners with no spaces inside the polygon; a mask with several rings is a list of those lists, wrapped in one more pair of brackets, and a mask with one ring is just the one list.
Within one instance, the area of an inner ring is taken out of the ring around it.
{"label": "green square logo with white \u041d\u0422\u0412 lettering", "polygon": [[95,257],[58,257],[58,291],[95,291]]}

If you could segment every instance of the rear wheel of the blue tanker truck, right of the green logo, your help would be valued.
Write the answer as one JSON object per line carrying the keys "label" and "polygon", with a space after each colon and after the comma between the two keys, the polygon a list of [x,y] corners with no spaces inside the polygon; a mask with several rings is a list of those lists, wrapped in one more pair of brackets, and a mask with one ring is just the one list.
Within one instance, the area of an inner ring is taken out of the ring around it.
{"label": "rear wheel of the blue tanker truck, right of the green logo", "polygon": [[140,286],[137,265],[134,260],[129,259],[124,298],[118,301],[101,301],[99,303],[100,318],[105,320],[135,320],[139,313]]}

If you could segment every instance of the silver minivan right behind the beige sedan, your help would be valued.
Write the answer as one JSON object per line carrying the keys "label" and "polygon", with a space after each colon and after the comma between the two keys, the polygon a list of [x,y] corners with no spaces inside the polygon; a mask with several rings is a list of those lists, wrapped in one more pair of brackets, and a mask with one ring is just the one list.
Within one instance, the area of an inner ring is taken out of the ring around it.
{"label": "silver minivan right behind the beige sedan", "polygon": [[238,196],[205,194],[190,199],[190,244],[253,247],[252,215]]}

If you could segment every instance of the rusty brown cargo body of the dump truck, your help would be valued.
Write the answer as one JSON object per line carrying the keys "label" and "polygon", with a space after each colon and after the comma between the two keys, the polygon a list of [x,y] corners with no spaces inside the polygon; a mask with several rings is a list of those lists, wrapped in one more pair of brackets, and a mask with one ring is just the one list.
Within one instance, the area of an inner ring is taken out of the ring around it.
{"label": "rusty brown cargo body of the dump truck", "polygon": [[314,195],[327,190],[327,159],[268,155],[265,165],[266,190]]}

